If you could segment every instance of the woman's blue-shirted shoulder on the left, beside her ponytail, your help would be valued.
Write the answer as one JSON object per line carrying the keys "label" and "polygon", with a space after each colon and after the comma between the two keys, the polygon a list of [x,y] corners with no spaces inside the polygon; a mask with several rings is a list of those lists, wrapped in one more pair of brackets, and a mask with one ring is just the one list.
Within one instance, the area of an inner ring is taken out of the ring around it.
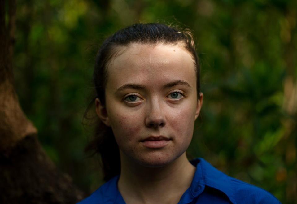
{"label": "woman's blue-shirted shoulder on the left, beside her ponytail", "polygon": [[81,200],[77,204],[101,204],[101,203],[115,203],[118,196],[117,180],[119,176],[107,181],[97,190],[95,190],[89,197]]}

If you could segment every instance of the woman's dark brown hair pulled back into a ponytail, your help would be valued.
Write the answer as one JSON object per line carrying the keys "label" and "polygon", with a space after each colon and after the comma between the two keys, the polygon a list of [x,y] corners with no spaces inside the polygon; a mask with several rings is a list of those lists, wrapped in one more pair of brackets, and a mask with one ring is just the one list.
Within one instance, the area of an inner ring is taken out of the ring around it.
{"label": "woman's dark brown hair pulled back into a ponytail", "polygon": [[[105,87],[108,79],[108,63],[116,56],[118,46],[131,43],[166,44],[182,46],[193,57],[197,79],[197,93],[200,92],[200,67],[192,33],[187,29],[178,29],[159,23],[133,24],[108,37],[100,47],[94,66],[94,85],[96,98],[105,106]],[[99,153],[102,159],[104,180],[120,174],[119,147],[110,127],[101,121],[95,128],[95,137],[86,147],[86,151]]]}

